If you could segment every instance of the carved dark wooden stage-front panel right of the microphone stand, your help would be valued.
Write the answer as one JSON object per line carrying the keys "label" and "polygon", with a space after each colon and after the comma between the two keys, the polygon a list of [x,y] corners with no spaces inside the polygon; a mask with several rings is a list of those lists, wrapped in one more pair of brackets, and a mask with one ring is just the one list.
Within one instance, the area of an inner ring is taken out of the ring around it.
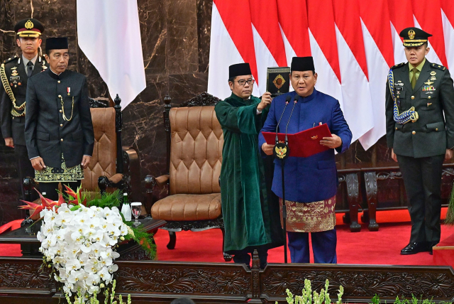
{"label": "carved dark wooden stage-front panel right of the microphone stand", "polygon": [[369,301],[375,294],[381,300],[395,300],[411,294],[423,298],[453,302],[454,273],[449,267],[415,266],[285,266],[272,264],[263,273],[262,298],[274,303],[285,303],[284,293],[289,288],[301,295],[304,279],[311,280],[312,290],[324,288],[326,279],[330,282],[328,291],[331,299],[336,298],[338,287],[344,287],[344,303]]}

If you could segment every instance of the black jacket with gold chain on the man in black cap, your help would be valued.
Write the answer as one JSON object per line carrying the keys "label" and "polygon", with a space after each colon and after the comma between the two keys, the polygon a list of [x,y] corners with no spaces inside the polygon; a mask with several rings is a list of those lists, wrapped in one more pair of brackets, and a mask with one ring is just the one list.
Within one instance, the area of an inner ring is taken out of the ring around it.
{"label": "black jacket with gold chain on the man in black cap", "polygon": [[[70,121],[65,121],[63,114]],[[52,168],[60,168],[62,153],[68,168],[81,163],[84,155],[92,156],[94,133],[87,78],[70,70],[56,75],[50,69],[31,77],[25,134],[28,156],[40,156]]]}

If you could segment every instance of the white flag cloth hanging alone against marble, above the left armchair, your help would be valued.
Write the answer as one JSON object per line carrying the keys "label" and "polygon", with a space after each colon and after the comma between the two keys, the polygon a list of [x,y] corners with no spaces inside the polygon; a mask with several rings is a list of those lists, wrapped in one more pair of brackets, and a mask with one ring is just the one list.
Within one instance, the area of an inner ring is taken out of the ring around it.
{"label": "white flag cloth hanging alone against marble, above the left armchair", "polygon": [[124,109],[146,87],[136,0],[77,0],[79,47]]}

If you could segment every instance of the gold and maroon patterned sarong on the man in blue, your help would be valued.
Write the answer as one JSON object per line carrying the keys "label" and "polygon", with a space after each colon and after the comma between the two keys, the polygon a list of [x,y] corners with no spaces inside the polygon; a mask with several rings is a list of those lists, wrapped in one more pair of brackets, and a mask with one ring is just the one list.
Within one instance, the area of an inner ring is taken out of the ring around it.
{"label": "gold and maroon patterned sarong on the man in blue", "polygon": [[[318,202],[293,202],[285,200],[287,207],[287,231],[289,232],[323,232],[336,226],[336,195],[328,200]],[[282,198],[279,199],[281,224]]]}

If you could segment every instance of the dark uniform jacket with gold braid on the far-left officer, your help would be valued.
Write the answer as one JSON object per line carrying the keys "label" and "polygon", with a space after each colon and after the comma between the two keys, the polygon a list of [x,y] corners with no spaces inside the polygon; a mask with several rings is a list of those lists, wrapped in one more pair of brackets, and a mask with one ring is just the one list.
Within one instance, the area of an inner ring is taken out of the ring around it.
{"label": "dark uniform jacket with gold braid on the far-left officer", "polygon": [[[48,69],[48,63],[38,56],[32,76]],[[26,146],[23,130],[26,124],[25,107],[28,76],[21,57],[14,56],[5,60],[0,70],[0,122],[4,139],[12,137],[15,145]],[[9,91],[6,92],[6,91]],[[12,97],[12,99],[11,99]],[[14,100],[15,99],[15,100]],[[13,100],[16,107],[13,106]]]}

